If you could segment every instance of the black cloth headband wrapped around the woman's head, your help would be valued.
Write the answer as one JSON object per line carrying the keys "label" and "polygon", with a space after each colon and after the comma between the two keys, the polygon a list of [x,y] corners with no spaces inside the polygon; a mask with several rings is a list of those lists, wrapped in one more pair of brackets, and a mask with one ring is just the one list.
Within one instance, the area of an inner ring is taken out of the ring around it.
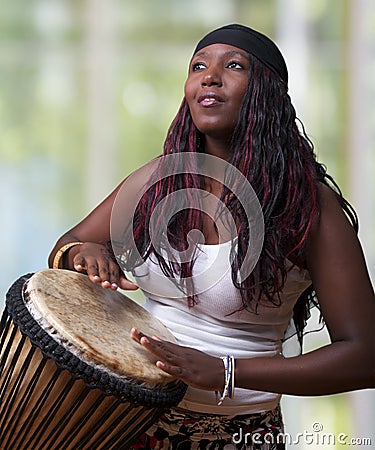
{"label": "black cloth headband wrapped around the woman's head", "polygon": [[288,84],[288,69],[283,55],[276,44],[264,34],[244,25],[226,25],[204,36],[198,42],[193,55],[212,44],[228,44],[245,50],[276,72]]}

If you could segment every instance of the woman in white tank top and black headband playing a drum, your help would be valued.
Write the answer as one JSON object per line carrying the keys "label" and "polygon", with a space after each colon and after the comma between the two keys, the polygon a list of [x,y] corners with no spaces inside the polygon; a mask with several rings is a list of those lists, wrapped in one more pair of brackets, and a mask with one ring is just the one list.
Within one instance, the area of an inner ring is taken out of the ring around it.
{"label": "woman in white tank top and black headband playing a drum", "polygon": [[[209,33],[190,61],[163,157],[130,177],[133,183],[121,183],[51,252],[50,266],[86,272],[103,288],[140,285],[146,307],[177,337],[174,345],[132,330],[161,370],[189,386],[179,407],[134,443],[136,449],[283,448],[275,437],[282,432],[280,394],[374,385],[374,294],[356,216],[298,128],[287,83],[284,59],[263,34],[242,25]],[[135,206],[116,204],[123,192],[131,201],[140,190]],[[186,205],[168,215],[181,192]],[[251,192],[263,216],[255,228],[255,203],[247,209]],[[207,203],[213,198],[216,213]],[[130,216],[133,222],[118,233],[118,211],[126,209],[124,224]],[[117,230],[112,247],[111,226]],[[165,235],[167,245],[158,245]],[[249,262],[247,250],[257,245]],[[120,266],[133,272],[135,283]],[[207,266],[209,282],[202,284]],[[217,267],[224,267],[220,275]],[[159,283],[160,277],[171,283]],[[315,299],[331,343],[283,358],[292,315],[302,338]]]}

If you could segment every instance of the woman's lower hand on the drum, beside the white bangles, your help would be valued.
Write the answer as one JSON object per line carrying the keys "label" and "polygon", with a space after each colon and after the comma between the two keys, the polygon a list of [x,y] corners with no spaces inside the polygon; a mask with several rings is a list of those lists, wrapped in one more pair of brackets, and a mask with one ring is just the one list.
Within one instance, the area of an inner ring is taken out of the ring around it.
{"label": "woman's lower hand on the drum, beside the white bangles", "polygon": [[223,389],[224,365],[220,358],[155,336],[146,336],[136,328],[132,328],[131,338],[158,358],[156,366],[159,369],[189,386],[206,391]]}

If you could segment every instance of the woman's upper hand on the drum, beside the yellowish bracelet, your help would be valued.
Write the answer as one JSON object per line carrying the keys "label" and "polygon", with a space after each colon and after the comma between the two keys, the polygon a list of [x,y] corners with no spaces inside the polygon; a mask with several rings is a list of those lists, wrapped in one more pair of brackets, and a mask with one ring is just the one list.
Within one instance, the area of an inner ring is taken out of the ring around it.
{"label": "woman's upper hand on the drum, beside the yellowish bracelet", "polygon": [[85,242],[72,248],[73,266],[77,272],[85,272],[95,284],[105,289],[136,290],[138,286],[129,281],[120,269],[113,254],[105,245]]}

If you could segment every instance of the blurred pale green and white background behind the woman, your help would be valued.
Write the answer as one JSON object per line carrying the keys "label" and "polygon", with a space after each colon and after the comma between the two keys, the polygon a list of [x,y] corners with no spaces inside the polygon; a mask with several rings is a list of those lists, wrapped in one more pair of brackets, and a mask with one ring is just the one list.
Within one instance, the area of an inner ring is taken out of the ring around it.
{"label": "blurred pale green and white background behind the woman", "polygon": [[[1,309],[13,281],[45,268],[57,238],[160,153],[195,43],[231,22],[280,45],[298,116],[359,213],[373,278],[372,0],[0,0]],[[306,349],[326,340],[312,334]],[[292,436],[320,422],[375,448],[373,391],[283,406]]]}

